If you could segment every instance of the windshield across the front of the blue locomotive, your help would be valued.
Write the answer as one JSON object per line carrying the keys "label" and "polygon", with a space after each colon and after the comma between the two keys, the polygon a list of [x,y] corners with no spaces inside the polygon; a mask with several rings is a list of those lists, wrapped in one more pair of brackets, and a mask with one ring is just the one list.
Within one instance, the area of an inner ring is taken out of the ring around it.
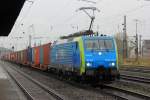
{"label": "windshield across the front of the blue locomotive", "polygon": [[85,40],[85,48],[87,50],[112,50],[113,40]]}

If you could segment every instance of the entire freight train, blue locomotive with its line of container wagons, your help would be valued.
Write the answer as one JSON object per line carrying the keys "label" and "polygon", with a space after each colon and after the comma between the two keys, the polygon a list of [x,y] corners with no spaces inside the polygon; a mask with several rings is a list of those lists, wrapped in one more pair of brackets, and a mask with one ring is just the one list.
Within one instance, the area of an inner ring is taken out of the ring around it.
{"label": "entire freight train, blue locomotive with its line of container wagons", "polygon": [[116,42],[111,36],[70,37],[53,44],[11,52],[3,59],[84,80],[112,81],[120,76]]}

